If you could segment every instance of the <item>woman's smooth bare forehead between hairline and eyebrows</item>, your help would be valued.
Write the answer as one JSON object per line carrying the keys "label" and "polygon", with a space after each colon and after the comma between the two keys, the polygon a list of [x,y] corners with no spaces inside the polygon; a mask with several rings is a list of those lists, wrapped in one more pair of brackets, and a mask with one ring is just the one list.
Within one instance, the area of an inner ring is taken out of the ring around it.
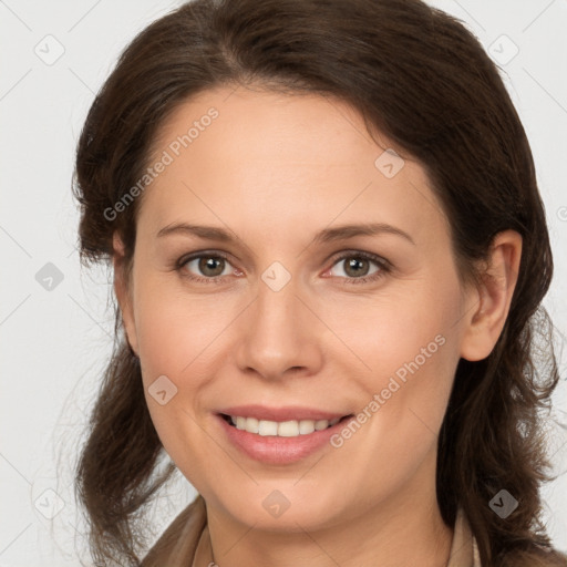
{"label": "woman's smooth bare forehead between hairline and eyebrows", "polygon": [[375,138],[336,99],[244,87],[202,92],[159,128],[150,165],[167,165],[144,193],[140,223],[155,231],[197,218],[252,221],[282,237],[290,223],[388,221],[414,234],[444,226],[423,168],[384,153],[392,144]]}

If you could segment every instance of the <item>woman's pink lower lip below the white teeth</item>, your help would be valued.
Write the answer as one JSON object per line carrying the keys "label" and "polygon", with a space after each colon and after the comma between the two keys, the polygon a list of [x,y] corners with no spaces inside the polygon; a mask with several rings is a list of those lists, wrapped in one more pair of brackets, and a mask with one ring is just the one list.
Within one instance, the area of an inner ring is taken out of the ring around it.
{"label": "woman's pink lower lip below the white teeth", "polygon": [[258,435],[248,431],[238,430],[220,415],[216,415],[223,426],[228,440],[241,452],[255,461],[272,465],[286,465],[296,463],[316,453],[324,445],[330,444],[330,439],[344,427],[354,415],[339,421],[334,425],[322,430],[313,431],[307,435],[296,437],[279,437],[276,435]]}

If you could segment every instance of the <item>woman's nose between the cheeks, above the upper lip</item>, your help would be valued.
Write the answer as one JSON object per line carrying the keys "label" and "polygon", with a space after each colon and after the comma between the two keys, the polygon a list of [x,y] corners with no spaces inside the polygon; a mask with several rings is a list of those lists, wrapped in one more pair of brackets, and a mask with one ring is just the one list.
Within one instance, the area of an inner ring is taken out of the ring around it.
{"label": "woman's nose between the cheeks, above the upper lip", "polygon": [[241,372],[271,381],[319,372],[326,327],[293,278],[278,291],[260,280],[243,316],[236,354]]}

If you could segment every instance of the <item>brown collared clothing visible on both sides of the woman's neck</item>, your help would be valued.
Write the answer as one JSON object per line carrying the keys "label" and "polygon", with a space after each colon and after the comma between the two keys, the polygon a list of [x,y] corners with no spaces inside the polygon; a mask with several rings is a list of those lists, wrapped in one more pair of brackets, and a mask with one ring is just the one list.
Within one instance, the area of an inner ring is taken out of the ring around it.
{"label": "brown collared clothing visible on both sides of the woman's neck", "polygon": [[[199,494],[172,522],[141,567],[208,567],[212,563],[207,509]],[[462,508],[457,509],[447,567],[481,567],[476,540]]]}

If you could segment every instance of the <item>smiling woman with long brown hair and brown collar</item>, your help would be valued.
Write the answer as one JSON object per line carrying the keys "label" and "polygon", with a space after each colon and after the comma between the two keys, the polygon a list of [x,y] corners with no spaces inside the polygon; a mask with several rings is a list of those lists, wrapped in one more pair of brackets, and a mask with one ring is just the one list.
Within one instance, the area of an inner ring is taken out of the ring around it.
{"label": "smiling woman with long brown hair and brown collar", "polygon": [[[196,0],[144,30],[79,141],[116,350],[78,467],[97,561],[566,565],[533,365],[553,271],[494,64],[417,0]],[[159,470],[161,457],[173,463]]]}

